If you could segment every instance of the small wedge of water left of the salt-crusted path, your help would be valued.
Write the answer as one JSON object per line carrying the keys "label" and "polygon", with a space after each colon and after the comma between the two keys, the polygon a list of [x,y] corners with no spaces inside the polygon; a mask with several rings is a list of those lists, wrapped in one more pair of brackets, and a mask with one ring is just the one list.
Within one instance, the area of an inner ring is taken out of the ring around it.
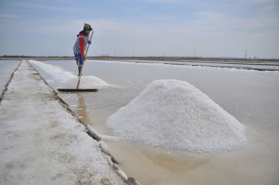
{"label": "small wedge of water left of the salt-crusted path", "polygon": [[0,95],[5,89],[6,83],[10,79],[10,75],[17,68],[20,61],[0,61]]}

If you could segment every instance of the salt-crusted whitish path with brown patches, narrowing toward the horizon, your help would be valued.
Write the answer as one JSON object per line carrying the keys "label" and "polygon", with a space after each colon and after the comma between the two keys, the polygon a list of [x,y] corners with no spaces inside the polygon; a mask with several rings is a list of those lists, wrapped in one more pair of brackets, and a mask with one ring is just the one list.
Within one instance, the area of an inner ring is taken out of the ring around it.
{"label": "salt-crusted whitish path with brown patches, narrowing toward the horizon", "polygon": [[0,104],[0,184],[125,184],[84,130],[22,61]]}

